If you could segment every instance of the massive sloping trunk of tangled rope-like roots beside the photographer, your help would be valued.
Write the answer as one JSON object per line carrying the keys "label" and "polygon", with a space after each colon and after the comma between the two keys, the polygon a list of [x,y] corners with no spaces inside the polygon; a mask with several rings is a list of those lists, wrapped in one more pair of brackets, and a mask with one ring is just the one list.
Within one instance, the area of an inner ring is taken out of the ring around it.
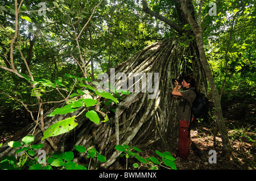
{"label": "massive sloping trunk of tangled rope-like roots beside the photographer", "polygon": [[[188,44],[188,47],[182,47],[178,40],[163,40],[144,48],[141,52],[129,58],[129,60],[118,65],[115,68],[115,74],[125,73],[129,75],[129,73],[144,73],[148,78],[149,73],[152,73],[152,81],[154,82],[153,93],[156,96],[150,98],[150,95],[153,94],[152,91],[131,92],[131,94],[125,95],[125,99],[119,100],[117,106],[113,106],[115,113],[109,115],[109,121],[106,123],[96,125],[86,119],[84,115],[78,116],[76,119],[78,125],[75,129],[68,133],[52,137],[52,141],[58,150],[74,150],[74,145],[82,145],[85,148],[94,146],[100,154],[105,155],[107,162],[103,163],[101,167],[107,169],[121,154],[114,149],[117,142],[119,144],[138,146],[143,149],[150,144],[161,141],[164,146],[171,148],[172,145],[176,144],[175,138],[177,137],[177,102],[171,95],[171,90],[174,88],[172,78],[176,78],[179,75],[181,64],[183,65],[182,69],[184,71],[192,74],[193,77],[196,77],[197,81],[201,82],[201,89],[206,90],[205,74],[202,71],[203,66],[196,56],[196,49],[193,43]],[[193,56],[192,63],[187,62],[186,58],[184,58],[189,56]],[[195,68],[196,71],[192,72],[187,67]],[[159,83],[154,81],[154,73],[158,73]],[[141,81],[140,85],[142,83]],[[104,100],[102,99],[102,101]],[[56,123],[56,121],[78,115],[82,110],[80,108],[72,114],[47,117],[55,108],[44,114],[45,129]],[[102,111],[107,108],[108,106],[101,104],[100,110]],[[11,140],[21,141],[24,136],[34,132],[34,127],[34,123],[28,125],[23,131],[18,132],[11,138]],[[32,144],[40,144],[42,136],[41,130],[36,128],[34,132],[35,141]],[[43,144],[44,150],[47,153],[53,151],[47,141],[43,141]],[[7,143],[5,143],[0,148],[0,159],[5,155],[14,153],[15,149],[9,148]],[[77,162],[82,162],[82,159],[80,159],[82,157],[82,155],[78,156]]]}

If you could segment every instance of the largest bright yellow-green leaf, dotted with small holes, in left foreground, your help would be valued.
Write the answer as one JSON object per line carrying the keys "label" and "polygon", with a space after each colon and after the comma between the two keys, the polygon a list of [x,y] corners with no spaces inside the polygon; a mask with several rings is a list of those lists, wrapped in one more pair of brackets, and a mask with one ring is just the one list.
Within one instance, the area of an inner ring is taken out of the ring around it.
{"label": "largest bright yellow-green leaf, dotted with small holes, in left foreground", "polygon": [[52,137],[52,136],[57,136],[63,133],[67,133],[69,131],[71,131],[72,129],[74,129],[77,126],[77,123],[75,123],[75,117],[69,117],[68,119],[65,120],[61,120],[53,125],[51,125],[51,127],[49,127],[45,132],[44,132],[44,136],[42,137],[43,141],[44,139],[48,138],[48,137]]}

